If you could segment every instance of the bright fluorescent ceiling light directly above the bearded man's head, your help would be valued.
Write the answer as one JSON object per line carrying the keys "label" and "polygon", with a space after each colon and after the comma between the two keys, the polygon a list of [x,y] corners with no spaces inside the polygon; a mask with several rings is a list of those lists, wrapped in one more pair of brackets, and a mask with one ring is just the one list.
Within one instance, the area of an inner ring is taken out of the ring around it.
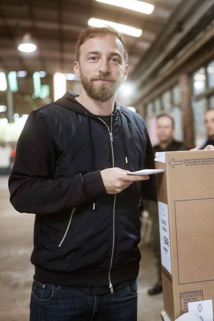
{"label": "bright fluorescent ceiling light directly above the bearded man's head", "polygon": [[126,35],[132,36],[132,37],[140,37],[142,35],[142,30],[134,28],[130,25],[121,24],[113,21],[107,21],[97,18],[90,18],[88,21],[88,25],[93,27],[102,28],[104,26],[111,26],[112,28],[116,29],[117,31],[124,33]]}

